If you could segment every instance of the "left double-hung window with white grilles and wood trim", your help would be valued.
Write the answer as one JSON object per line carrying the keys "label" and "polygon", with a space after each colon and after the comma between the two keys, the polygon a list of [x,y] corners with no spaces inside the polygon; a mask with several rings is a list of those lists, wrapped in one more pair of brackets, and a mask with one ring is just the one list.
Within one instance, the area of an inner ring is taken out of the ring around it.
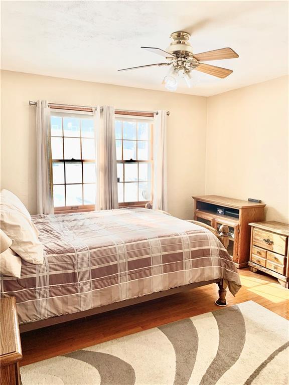
{"label": "left double-hung window with white grilles and wood trim", "polygon": [[51,113],[55,212],[85,211],[95,205],[95,144],[91,115]]}

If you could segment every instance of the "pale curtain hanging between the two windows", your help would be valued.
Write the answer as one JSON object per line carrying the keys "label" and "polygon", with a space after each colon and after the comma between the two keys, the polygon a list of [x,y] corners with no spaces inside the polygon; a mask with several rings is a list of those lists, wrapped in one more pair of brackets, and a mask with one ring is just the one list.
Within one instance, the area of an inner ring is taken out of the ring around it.
{"label": "pale curtain hanging between the two windows", "polygon": [[[101,111],[102,109],[102,111]],[[96,201],[95,210],[118,209],[114,107],[96,107]]]}

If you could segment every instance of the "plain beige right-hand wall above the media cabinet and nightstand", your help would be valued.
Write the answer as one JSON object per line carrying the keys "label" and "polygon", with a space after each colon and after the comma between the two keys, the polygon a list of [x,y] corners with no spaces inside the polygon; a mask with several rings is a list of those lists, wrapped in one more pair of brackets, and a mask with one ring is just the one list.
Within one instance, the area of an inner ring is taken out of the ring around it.
{"label": "plain beige right-hand wall above the media cabinet and nightstand", "polygon": [[206,194],[261,199],[288,219],[288,77],[208,98]]}

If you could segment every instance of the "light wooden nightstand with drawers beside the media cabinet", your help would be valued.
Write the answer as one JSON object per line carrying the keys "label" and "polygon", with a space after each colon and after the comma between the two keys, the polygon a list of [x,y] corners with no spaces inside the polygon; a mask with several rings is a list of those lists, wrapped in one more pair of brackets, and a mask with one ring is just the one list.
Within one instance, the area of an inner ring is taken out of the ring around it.
{"label": "light wooden nightstand with drawers beside the media cabinet", "polygon": [[277,278],[279,283],[289,287],[289,225],[268,221],[250,223],[251,247],[249,266]]}

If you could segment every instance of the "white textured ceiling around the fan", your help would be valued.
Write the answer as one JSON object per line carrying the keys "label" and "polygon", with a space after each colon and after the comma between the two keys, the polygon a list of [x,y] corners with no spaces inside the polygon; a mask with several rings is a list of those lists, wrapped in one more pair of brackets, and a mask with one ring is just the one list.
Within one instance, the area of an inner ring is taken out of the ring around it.
{"label": "white textured ceiling around the fan", "polygon": [[[166,49],[174,31],[192,33],[195,53],[231,47],[238,59],[226,79],[197,72],[191,88],[209,96],[288,72],[287,2],[2,2],[2,68],[100,83],[164,90],[166,67],[140,46]],[[169,91],[168,91],[169,92]]]}

